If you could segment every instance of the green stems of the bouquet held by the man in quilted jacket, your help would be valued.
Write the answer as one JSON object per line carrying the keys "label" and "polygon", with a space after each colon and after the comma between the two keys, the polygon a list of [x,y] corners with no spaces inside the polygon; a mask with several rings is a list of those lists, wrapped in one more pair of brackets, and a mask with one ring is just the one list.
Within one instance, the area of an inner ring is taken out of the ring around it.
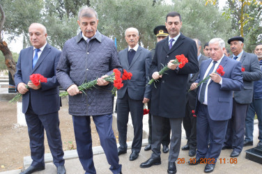
{"label": "green stems of the bouquet held by the man in quilted jacket", "polygon": [[[113,83],[114,80],[115,80],[114,73],[111,74],[109,77],[105,77],[104,80]],[[98,79],[95,79],[95,80],[93,80],[93,81],[88,81],[87,83],[84,83],[84,84],[82,84],[81,86],[78,86],[78,89],[79,89],[80,91],[82,91],[83,93],[85,93],[84,90],[93,88],[93,87],[96,86],[96,84],[98,84]],[[112,89],[112,93],[113,93],[113,94],[116,93],[116,88],[115,88],[115,87]],[[85,94],[86,94],[86,93],[85,93]],[[62,93],[59,93],[59,96],[60,96],[60,97],[65,97],[65,96],[67,96],[67,95],[68,95],[68,92],[67,92],[67,91],[62,92]]]}

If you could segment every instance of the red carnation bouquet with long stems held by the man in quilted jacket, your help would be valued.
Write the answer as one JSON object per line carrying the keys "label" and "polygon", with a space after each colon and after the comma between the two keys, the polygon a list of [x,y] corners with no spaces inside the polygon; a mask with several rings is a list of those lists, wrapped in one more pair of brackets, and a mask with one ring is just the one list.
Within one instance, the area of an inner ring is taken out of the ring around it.
{"label": "red carnation bouquet with long stems held by the man in quilted jacket", "polygon": [[[124,70],[122,78],[121,78],[121,72],[117,69],[114,69],[113,73],[109,75],[108,77],[105,77],[104,80],[114,83],[114,88],[112,89],[112,94],[114,94],[116,93],[117,89],[120,89],[123,87],[124,85],[122,84],[123,80],[130,80],[131,77],[132,77],[132,73]],[[87,83],[84,83],[81,86],[78,86],[78,89],[84,93],[84,90],[93,88],[95,87],[96,84],[98,84],[98,79],[95,79],[93,81],[88,81]],[[59,93],[60,97],[64,97],[66,95],[68,95],[67,91]]]}

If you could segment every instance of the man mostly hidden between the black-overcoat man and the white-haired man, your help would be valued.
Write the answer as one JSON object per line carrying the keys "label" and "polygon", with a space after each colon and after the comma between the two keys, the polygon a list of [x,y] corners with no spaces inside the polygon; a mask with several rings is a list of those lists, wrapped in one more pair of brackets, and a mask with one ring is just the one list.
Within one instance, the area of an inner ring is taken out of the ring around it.
{"label": "man mostly hidden between the black-overcoat man and the white-haired man", "polygon": [[[199,39],[193,39],[196,42],[197,47],[197,60],[199,61],[199,67],[202,61],[208,59],[208,57],[203,56],[200,53],[201,50],[201,42]],[[209,49],[209,48],[208,48]],[[188,91],[190,86],[196,80],[196,77],[199,76],[199,72],[195,74],[189,74],[187,81]],[[185,135],[187,136],[187,144],[182,147],[182,150],[189,150],[188,155],[190,157],[194,157],[196,155],[196,117],[192,110],[194,110],[196,105],[196,90],[192,90],[189,93],[187,92],[187,104],[185,108],[185,117],[183,118],[183,127],[185,129]]]}

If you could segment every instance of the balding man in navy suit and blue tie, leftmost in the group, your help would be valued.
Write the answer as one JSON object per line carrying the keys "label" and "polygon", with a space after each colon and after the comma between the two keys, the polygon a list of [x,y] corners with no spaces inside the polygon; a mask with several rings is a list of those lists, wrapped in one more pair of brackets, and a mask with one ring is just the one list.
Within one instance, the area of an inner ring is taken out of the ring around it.
{"label": "balding man in navy suit and blue tie, leftmost in the group", "polygon": [[[56,65],[61,52],[47,43],[47,29],[42,24],[31,24],[29,36],[33,46],[20,52],[15,74],[17,90],[23,95],[22,112],[26,117],[33,159],[31,166],[22,173],[45,169],[44,129],[57,173],[66,173],[59,129],[59,82],[56,79]],[[31,74],[42,74],[47,83],[35,86],[29,81]]]}

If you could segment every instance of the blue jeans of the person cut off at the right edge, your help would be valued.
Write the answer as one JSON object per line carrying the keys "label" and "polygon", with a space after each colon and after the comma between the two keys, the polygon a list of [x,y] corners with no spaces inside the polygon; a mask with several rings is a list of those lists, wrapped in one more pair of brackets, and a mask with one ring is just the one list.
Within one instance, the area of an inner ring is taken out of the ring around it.
{"label": "blue jeans of the person cut off at the right edge", "polygon": [[253,141],[254,116],[259,120],[259,141],[262,142],[262,99],[253,99],[245,119],[245,141]]}

